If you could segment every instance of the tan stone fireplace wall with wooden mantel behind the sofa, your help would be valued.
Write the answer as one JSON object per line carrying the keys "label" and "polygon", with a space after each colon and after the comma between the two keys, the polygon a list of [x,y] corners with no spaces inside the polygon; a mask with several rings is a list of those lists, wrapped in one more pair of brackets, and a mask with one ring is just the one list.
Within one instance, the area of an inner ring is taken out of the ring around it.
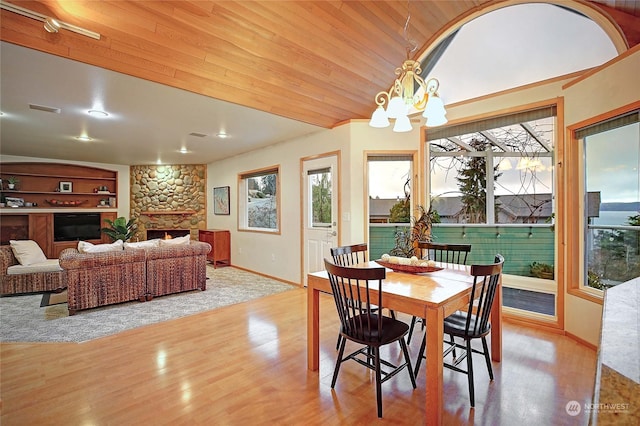
{"label": "tan stone fireplace wall with wooden mantel behind the sofa", "polygon": [[191,238],[198,239],[207,219],[206,165],[131,166],[129,170],[131,217],[138,225],[131,240],[144,240],[147,229],[189,229]]}

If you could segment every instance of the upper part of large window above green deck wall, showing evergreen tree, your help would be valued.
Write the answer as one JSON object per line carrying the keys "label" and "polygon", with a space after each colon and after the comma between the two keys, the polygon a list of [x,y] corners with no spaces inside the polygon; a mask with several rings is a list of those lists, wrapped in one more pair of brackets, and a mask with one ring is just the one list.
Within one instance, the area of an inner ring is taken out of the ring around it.
{"label": "upper part of large window above green deck wall, showing evergreen tree", "polygon": [[555,108],[427,132],[430,195],[443,223],[553,219]]}

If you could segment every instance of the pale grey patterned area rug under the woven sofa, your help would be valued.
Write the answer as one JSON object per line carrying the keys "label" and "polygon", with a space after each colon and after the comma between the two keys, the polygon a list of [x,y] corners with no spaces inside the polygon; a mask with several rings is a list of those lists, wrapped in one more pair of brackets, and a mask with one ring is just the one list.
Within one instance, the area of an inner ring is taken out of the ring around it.
{"label": "pale grey patterned area rug under the woven sofa", "polygon": [[[233,267],[207,266],[207,290],[150,302],[137,301],[79,311],[69,316],[66,301],[41,307],[42,294],[0,298],[0,341],[84,342],[136,327],[242,303],[297,287]],[[62,296],[62,293],[55,296]],[[66,300],[66,299],[65,299]]]}

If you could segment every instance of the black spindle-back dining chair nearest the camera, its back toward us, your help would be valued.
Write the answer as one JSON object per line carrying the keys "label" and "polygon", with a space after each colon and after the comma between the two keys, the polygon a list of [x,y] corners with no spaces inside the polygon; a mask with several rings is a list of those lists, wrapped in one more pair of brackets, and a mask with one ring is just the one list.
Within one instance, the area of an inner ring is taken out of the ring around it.
{"label": "black spindle-back dining chair nearest the camera, its back toward us", "polygon": [[[382,280],[386,277],[385,268],[339,266],[328,259],[325,259],[324,263],[331,283],[333,300],[340,317],[340,335],[343,337],[333,371],[331,388],[335,387],[340,366],[345,361],[353,360],[375,371],[378,417],[382,417],[382,383],[406,368],[411,384],[414,389],[416,388],[409,351],[404,340],[409,326],[395,318],[380,315],[379,310],[374,309],[375,306],[382,306],[382,291],[374,295],[369,284],[373,282],[374,288],[381,289]],[[362,347],[343,357],[347,340]],[[394,342],[399,342],[404,355],[404,362],[397,366],[380,357],[380,348]],[[382,366],[391,371],[383,370]]]}

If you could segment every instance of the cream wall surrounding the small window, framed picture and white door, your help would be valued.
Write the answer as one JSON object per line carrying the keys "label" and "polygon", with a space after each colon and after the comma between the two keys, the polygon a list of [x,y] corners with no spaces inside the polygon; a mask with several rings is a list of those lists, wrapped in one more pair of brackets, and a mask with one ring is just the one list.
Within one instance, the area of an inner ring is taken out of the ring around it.
{"label": "cream wall surrounding the small window, framed picture and white door", "polygon": [[[208,165],[207,228],[231,231],[233,265],[300,283],[300,159],[337,150],[344,154],[348,145],[348,126],[341,126]],[[347,161],[343,155],[343,175],[348,175]],[[238,231],[238,174],[275,165],[280,166],[280,234]],[[229,216],[213,214],[217,186],[231,187]]]}

